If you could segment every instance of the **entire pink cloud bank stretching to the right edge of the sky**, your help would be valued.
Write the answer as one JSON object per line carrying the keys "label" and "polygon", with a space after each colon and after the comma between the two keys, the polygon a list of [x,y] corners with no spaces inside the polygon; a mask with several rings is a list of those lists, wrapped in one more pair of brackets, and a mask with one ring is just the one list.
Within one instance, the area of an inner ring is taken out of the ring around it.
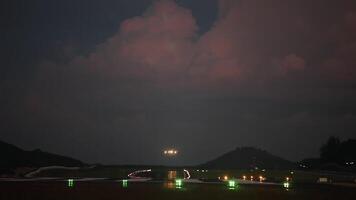
{"label": "entire pink cloud bank stretching to the right edge of the sky", "polygon": [[[142,16],[123,21],[117,34],[72,65],[161,86],[238,87],[286,79],[294,72],[355,78],[355,14],[342,13],[336,23],[314,27],[308,12],[300,3],[280,0],[220,0],[218,19],[198,35],[189,9],[159,0]],[[318,39],[321,31],[328,34]],[[323,53],[329,44],[333,48]]]}

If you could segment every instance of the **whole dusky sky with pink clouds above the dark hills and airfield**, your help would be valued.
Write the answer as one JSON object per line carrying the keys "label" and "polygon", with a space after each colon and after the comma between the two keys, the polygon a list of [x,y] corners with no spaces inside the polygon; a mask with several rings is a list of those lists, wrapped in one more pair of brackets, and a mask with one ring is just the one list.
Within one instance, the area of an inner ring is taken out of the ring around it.
{"label": "whole dusky sky with pink clouds above the dark hills and airfield", "polygon": [[0,140],[90,163],[292,161],[356,133],[354,0],[5,0]]}

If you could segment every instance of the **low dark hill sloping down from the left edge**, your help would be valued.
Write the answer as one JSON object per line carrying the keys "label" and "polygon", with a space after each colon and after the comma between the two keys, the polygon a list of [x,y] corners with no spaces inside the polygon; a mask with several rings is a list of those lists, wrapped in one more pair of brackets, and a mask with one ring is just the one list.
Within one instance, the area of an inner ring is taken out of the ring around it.
{"label": "low dark hill sloping down from the left edge", "polygon": [[40,149],[33,151],[22,150],[15,145],[0,141],[0,169],[8,170],[18,167],[44,167],[44,166],[83,166],[84,163],[65,156],[43,152]]}

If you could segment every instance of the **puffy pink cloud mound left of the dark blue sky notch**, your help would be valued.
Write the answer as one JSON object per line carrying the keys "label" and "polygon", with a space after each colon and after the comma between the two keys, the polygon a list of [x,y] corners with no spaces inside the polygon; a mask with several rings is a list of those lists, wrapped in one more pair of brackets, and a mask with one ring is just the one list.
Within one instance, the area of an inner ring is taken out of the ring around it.
{"label": "puffy pink cloud mound left of the dark blue sky notch", "polygon": [[191,62],[197,30],[190,10],[157,1],[142,16],[122,22],[119,32],[82,62],[114,77],[170,81]]}

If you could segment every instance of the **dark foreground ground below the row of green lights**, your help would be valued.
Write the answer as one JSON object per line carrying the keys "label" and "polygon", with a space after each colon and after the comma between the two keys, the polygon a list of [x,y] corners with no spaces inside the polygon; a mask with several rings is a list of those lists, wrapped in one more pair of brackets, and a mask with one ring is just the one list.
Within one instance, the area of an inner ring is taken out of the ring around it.
{"label": "dark foreground ground below the row of green lights", "polygon": [[329,185],[282,186],[239,185],[229,189],[225,184],[184,184],[176,188],[169,183],[76,182],[73,188],[66,182],[0,182],[1,200],[89,200],[89,199],[356,199],[356,188]]}

